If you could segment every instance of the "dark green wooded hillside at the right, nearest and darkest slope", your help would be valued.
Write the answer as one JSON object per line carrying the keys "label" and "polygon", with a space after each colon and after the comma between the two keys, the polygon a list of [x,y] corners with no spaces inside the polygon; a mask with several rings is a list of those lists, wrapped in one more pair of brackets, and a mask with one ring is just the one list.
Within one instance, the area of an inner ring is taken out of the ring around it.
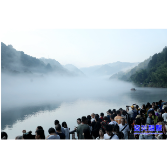
{"label": "dark green wooded hillside at the right, nearest and darkest slope", "polygon": [[145,69],[131,75],[130,81],[142,86],[167,87],[167,46],[152,56]]}

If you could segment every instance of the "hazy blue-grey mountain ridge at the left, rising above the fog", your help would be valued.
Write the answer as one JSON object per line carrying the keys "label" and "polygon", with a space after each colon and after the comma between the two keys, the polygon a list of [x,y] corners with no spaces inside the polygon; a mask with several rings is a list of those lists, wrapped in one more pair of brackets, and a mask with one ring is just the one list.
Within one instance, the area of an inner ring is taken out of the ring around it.
{"label": "hazy blue-grey mountain ridge at the left, rising above the fog", "polygon": [[47,74],[74,76],[53,59],[37,59],[23,51],[17,51],[12,45],[1,42],[1,72],[12,74]]}

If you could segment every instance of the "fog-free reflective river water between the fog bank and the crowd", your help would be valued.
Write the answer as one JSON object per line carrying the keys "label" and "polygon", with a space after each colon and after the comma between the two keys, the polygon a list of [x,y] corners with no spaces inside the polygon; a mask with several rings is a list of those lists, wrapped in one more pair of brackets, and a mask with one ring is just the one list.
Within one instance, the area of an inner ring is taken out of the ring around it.
{"label": "fog-free reflective river water between the fog bank and the crowd", "polygon": [[[166,88],[136,88],[136,91],[112,89],[105,90],[97,96],[83,96],[80,98],[71,98],[61,102],[52,102],[40,104],[37,106],[28,105],[27,107],[13,108],[1,111],[1,131],[7,132],[9,140],[14,140],[17,135],[22,134],[22,130],[31,130],[35,134],[37,126],[42,126],[45,135],[48,135],[48,129],[54,127],[54,120],[58,119],[60,123],[67,122],[70,130],[77,126],[77,118],[90,115],[91,113],[106,115],[108,109],[124,108],[126,105],[138,104],[140,107],[147,102],[156,102],[160,99],[167,101]],[[75,136],[76,137],[76,136]]]}

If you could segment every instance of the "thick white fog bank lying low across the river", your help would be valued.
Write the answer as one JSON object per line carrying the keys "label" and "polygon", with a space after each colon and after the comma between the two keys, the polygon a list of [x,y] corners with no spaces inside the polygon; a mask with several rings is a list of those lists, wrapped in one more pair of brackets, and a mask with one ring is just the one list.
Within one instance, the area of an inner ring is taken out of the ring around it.
{"label": "thick white fog bank lying low across the river", "polygon": [[[122,87],[123,85],[123,87]],[[132,84],[108,77],[27,77],[1,73],[1,111],[13,107],[71,101],[101,99],[129,91]]]}

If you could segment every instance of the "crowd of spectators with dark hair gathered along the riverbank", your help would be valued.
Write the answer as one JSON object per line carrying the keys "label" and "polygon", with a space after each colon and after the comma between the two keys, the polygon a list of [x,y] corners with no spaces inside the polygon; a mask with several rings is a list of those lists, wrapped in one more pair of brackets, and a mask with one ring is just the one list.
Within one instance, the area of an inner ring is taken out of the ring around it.
{"label": "crowd of spectators with dark hair gathered along the riverbank", "polygon": [[[78,140],[129,140],[130,134],[134,136],[134,140],[166,140],[167,102],[148,102],[141,108],[133,104],[126,106],[125,110],[109,109],[106,116],[104,113],[92,113],[78,118],[77,124],[73,132],[77,134]],[[32,135],[31,131],[23,130],[23,135],[16,136],[15,140],[70,140],[66,122],[62,122],[61,126],[59,121],[55,120],[54,125],[55,128],[49,128],[47,137],[43,127],[38,126],[35,135]],[[156,129],[157,127],[159,129]],[[8,135],[1,132],[1,140],[7,138]]]}

